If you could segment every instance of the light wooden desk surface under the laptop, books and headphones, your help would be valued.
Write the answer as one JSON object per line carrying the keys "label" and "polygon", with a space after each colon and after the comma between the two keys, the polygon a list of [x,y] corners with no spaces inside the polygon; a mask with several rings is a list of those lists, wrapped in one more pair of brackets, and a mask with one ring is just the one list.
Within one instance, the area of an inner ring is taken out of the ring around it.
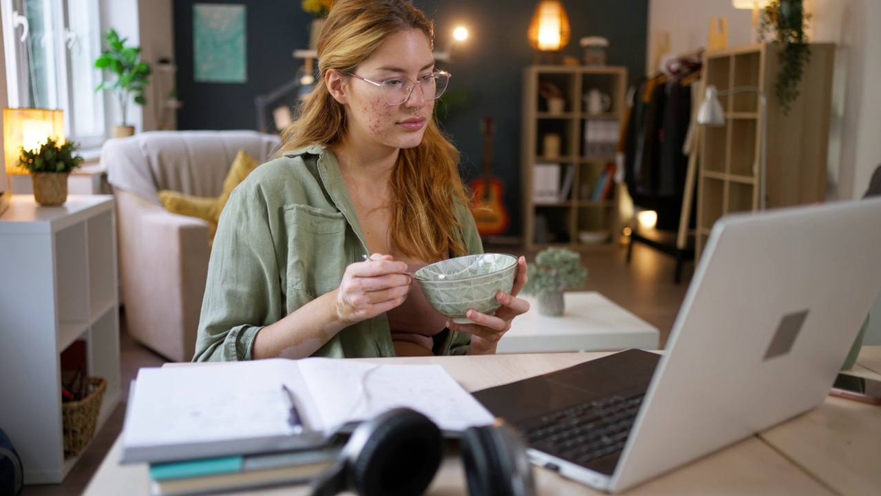
{"label": "light wooden desk surface under the laptop, books and headphones", "polygon": [[[607,352],[486,357],[380,358],[367,361],[441,364],[469,391],[498,386],[602,357]],[[881,370],[881,347],[865,347],[857,363],[867,373]],[[877,372],[876,372],[877,373]],[[120,465],[121,440],[107,454],[85,495],[118,493],[148,496],[146,464]],[[692,462],[626,492],[648,494],[869,494],[881,487],[881,407],[828,398],[811,412]],[[602,494],[585,485],[536,468],[540,495]],[[816,477],[816,478],[815,478]],[[286,486],[259,494],[307,494]],[[462,463],[449,455],[426,494],[466,494]]]}

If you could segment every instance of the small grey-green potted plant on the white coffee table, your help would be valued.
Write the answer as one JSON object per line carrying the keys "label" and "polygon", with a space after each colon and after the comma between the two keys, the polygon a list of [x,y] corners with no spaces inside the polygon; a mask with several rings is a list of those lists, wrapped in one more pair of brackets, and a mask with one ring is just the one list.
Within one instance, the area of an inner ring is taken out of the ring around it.
{"label": "small grey-green potted plant on the white coffee table", "polygon": [[547,248],[536,254],[529,264],[529,280],[523,292],[536,295],[538,312],[543,315],[563,314],[563,290],[581,286],[588,278],[588,269],[581,265],[581,255],[568,248]]}

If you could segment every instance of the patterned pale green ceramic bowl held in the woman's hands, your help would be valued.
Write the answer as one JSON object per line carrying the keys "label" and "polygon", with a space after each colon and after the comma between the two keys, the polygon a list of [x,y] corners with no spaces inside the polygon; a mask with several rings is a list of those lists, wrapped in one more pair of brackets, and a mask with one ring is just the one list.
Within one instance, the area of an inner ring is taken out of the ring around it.
{"label": "patterned pale green ceramic bowl held in the woman's hands", "polygon": [[484,253],[441,260],[420,268],[414,276],[434,310],[467,324],[468,309],[492,313],[499,308],[496,293],[510,291],[516,273],[514,255]]}

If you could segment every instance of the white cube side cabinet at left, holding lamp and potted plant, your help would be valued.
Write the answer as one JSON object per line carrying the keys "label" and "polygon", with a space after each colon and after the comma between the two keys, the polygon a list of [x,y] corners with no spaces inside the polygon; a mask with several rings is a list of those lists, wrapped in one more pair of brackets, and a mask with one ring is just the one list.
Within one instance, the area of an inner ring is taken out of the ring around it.
{"label": "white cube side cabinet at left, holding lamp and potted plant", "polygon": [[14,195],[0,216],[0,427],[26,484],[61,482],[78,459],[62,434],[60,354],[72,342],[86,343],[88,375],[107,380],[99,429],[120,401],[115,229],[106,195],[61,207]]}

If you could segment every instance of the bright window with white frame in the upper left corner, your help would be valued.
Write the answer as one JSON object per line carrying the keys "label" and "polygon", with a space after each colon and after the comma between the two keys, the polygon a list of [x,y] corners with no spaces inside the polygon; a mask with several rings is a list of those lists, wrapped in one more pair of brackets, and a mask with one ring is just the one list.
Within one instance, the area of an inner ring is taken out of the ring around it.
{"label": "bright window with white frame in the upper left corner", "polygon": [[0,0],[10,107],[63,109],[68,139],[100,147],[105,137],[100,0]]}

